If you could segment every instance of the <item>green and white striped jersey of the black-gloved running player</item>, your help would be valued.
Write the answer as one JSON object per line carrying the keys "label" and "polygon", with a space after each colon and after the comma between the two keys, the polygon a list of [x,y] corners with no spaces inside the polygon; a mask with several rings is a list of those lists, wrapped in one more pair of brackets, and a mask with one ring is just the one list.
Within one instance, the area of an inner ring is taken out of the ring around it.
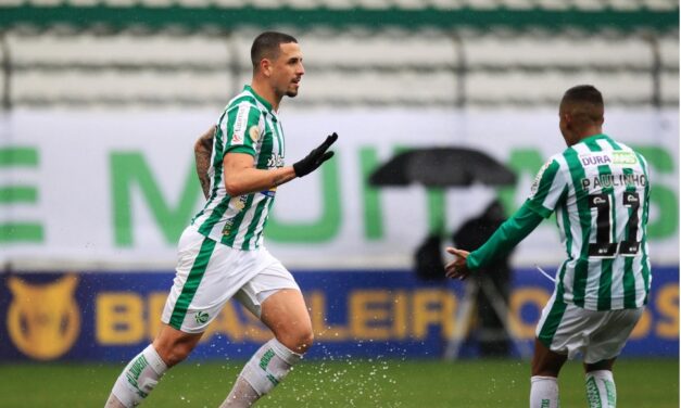
{"label": "green and white striped jersey of the black-gloved running player", "polygon": [[255,168],[283,166],[283,131],[272,105],[249,86],[227,104],[215,131],[209,176],[207,202],[192,219],[199,232],[225,245],[254,250],[263,242],[263,230],[275,200],[276,188],[239,196],[227,194],[223,179],[225,154],[247,153]]}

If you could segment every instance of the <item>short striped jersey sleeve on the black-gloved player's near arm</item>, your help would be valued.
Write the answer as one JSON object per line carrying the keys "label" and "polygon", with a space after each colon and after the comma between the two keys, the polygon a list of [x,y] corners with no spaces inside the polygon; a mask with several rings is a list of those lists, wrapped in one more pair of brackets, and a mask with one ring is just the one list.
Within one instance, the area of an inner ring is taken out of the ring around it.
{"label": "short striped jersey sleeve on the black-gloved player's near arm", "polygon": [[255,105],[242,102],[227,112],[220,123],[227,153],[245,153],[255,156],[255,143],[260,137],[261,116]]}

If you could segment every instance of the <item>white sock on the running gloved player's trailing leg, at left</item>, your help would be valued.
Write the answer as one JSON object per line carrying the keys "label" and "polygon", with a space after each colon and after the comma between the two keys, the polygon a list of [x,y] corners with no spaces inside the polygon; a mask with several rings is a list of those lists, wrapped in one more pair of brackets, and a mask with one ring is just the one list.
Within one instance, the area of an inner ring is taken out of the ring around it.
{"label": "white sock on the running gloved player's trailing leg, at left", "polygon": [[135,356],[118,375],[109,399],[115,396],[126,408],[138,406],[156,386],[167,369],[159,353],[150,344]]}

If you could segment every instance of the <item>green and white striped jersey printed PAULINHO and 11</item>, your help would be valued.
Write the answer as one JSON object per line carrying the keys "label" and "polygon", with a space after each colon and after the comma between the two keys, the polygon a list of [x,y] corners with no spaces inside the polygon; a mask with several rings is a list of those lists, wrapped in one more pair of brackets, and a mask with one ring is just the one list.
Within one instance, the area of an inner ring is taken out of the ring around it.
{"label": "green and white striped jersey printed PAULINHO and 11", "polygon": [[606,135],[551,157],[528,205],[543,217],[556,213],[568,256],[558,271],[557,296],[590,310],[647,303],[648,196],[645,158]]}

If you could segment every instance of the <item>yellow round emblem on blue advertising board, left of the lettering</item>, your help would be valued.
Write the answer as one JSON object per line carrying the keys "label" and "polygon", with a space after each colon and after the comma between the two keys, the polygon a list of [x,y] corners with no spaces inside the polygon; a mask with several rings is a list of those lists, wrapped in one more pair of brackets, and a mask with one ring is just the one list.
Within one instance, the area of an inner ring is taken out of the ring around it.
{"label": "yellow round emblem on blue advertising board, left of the lettering", "polygon": [[8,285],[13,297],[7,324],[16,348],[39,360],[68,352],[80,332],[80,314],[73,297],[78,277],[67,275],[48,284],[12,277]]}

